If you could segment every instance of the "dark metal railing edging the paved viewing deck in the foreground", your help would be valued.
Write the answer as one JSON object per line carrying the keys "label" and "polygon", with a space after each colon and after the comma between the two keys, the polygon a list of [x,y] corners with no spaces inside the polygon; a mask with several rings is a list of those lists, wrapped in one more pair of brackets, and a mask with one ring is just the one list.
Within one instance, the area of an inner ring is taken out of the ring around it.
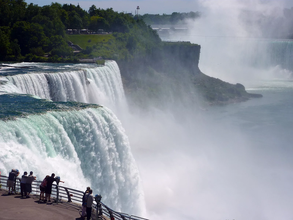
{"label": "dark metal railing edging the paved viewing deck in the foreground", "polygon": [[[7,180],[8,177],[0,175],[0,184],[2,189],[8,191],[7,187]],[[20,182],[21,178],[16,178],[16,181],[14,182],[14,192],[20,193]],[[42,181],[34,180],[32,182],[32,192],[31,195],[36,195],[37,197],[40,196],[40,188]],[[76,190],[76,189],[70,189],[67,187],[59,186],[59,185],[52,185],[52,193],[51,198],[54,200],[55,203],[67,203],[71,204],[73,206],[82,208],[82,197],[84,196],[84,192]],[[110,209],[108,206],[100,202],[99,204],[96,204],[96,202],[93,202],[92,204],[92,219],[104,219],[104,220],[148,220],[137,216],[129,216],[128,214],[114,211],[113,209]]]}

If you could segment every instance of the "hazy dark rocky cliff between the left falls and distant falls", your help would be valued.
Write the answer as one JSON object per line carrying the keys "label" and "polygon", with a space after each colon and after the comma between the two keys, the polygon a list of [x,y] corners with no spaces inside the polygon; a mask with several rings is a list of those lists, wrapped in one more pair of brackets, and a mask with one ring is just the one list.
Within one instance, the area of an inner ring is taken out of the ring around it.
{"label": "hazy dark rocky cliff between the left falls and distant falls", "polygon": [[[132,62],[118,62],[122,81],[127,93],[144,94],[149,99],[161,97],[166,89],[174,92],[181,90],[193,93],[184,87],[193,84],[196,96],[209,104],[223,104],[246,101],[251,97],[262,97],[250,94],[239,83],[231,84],[221,79],[209,77],[198,67],[200,45],[189,42],[163,42],[145,59],[134,59]],[[166,86],[169,84],[169,86]],[[183,95],[183,94],[182,94]],[[186,95],[183,95],[186,96]],[[138,97],[137,97],[138,98]],[[168,99],[165,97],[164,99]]]}

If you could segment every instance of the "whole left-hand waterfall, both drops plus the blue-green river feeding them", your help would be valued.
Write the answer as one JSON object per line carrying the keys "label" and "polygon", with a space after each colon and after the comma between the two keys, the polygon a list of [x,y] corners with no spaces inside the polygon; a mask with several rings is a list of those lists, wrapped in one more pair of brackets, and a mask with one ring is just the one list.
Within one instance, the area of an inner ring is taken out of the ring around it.
{"label": "whole left-hand waterfall, both drops plus the blue-green river feeding them", "polygon": [[90,185],[117,211],[144,214],[139,172],[121,122],[105,106],[81,103],[117,109],[124,104],[116,62],[33,65],[28,71],[1,69],[2,174],[11,168],[33,170],[42,180],[54,172],[64,186],[84,190]]}

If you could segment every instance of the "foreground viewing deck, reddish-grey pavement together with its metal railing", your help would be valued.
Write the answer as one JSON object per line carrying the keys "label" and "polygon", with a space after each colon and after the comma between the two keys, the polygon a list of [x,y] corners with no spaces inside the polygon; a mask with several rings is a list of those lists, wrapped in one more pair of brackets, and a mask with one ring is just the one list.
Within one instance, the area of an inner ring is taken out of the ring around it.
{"label": "foreground viewing deck, reddish-grey pavement together with its metal railing", "polygon": [[[42,181],[33,180],[31,198],[21,197],[21,178],[14,181],[16,194],[7,191],[8,177],[0,175],[0,220],[42,220],[42,219],[83,219],[81,218],[82,197],[84,192],[53,184],[51,201],[39,201]],[[95,197],[96,198],[96,197]],[[98,204],[96,203],[98,202]],[[93,220],[148,220],[138,216],[128,215],[114,211],[100,201],[92,204]]]}

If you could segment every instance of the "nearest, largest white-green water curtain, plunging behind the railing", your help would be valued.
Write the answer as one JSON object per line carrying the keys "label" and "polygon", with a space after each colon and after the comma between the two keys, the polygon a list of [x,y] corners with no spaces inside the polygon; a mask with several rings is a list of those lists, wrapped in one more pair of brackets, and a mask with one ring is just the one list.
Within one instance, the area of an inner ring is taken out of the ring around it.
{"label": "nearest, largest white-green water curtain, plunging behind the railing", "polygon": [[144,214],[139,172],[124,128],[106,107],[53,111],[0,121],[0,167],[56,173],[64,186],[103,196],[112,209]]}

